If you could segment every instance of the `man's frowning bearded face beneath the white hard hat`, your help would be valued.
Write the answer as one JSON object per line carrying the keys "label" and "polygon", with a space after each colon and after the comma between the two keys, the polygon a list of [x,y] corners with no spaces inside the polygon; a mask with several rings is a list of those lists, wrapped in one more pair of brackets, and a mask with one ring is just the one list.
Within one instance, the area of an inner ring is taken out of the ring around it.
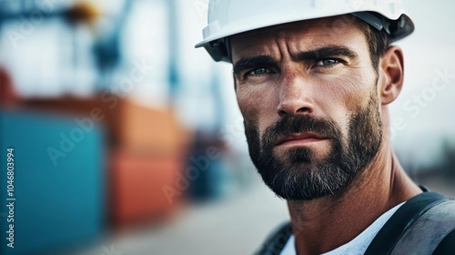
{"label": "man's frowning bearded face beneath the white hard hat", "polygon": [[339,20],[231,37],[249,154],[283,199],[318,199],[347,188],[379,150],[378,75],[366,36]]}

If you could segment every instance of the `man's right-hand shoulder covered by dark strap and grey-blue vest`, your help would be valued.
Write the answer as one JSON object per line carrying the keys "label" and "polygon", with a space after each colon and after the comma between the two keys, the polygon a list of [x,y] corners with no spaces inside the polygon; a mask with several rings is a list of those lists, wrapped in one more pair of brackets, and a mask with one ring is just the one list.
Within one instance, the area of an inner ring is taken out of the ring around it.
{"label": "man's right-hand shoulder covered by dark strap and grey-blue vest", "polygon": [[[366,254],[402,254],[412,250],[432,254],[447,242],[446,238],[451,240],[447,245],[455,243],[453,230],[455,201],[436,192],[424,192],[395,212],[370,243]],[[440,250],[445,250],[447,245]],[[451,245],[452,253],[454,249]]]}

